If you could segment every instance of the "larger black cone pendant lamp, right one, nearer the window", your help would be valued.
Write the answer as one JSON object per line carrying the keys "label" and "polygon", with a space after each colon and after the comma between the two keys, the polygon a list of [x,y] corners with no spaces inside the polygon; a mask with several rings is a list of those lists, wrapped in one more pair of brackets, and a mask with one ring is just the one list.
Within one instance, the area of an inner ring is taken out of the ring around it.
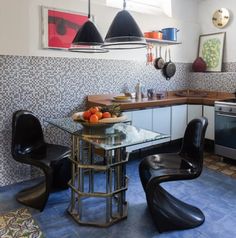
{"label": "larger black cone pendant lamp, right one, nearer the window", "polygon": [[124,9],[115,16],[103,44],[104,49],[121,50],[121,49],[138,49],[147,46],[147,42],[126,8],[124,0]]}

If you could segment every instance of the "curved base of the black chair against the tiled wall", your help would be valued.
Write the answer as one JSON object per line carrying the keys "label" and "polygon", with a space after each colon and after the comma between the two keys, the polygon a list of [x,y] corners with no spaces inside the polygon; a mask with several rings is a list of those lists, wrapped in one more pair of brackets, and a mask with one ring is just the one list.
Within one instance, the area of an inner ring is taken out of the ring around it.
{"label": "curved base of the black chair against the tiled wall", "polygon": [[16,195],[16,200],[26,206],[43,211],[49,197],[49,192],[46,190],[45,181],[20,191]]}

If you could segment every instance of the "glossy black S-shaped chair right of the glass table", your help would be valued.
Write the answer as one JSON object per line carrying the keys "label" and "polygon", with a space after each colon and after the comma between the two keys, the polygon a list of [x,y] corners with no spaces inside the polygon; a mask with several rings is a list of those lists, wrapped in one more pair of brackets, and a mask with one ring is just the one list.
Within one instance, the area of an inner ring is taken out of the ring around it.
{"label": "glossy black S-shaped chair right of the glass table", "polygon": [[159,232],[194,228],[205,220],[200,209],[175,198],[160,184],[194,179],[201,174],[207,125],[205,117],[193,119],[186,128],[179,153],[151,155],[139,165],[148,208]]}

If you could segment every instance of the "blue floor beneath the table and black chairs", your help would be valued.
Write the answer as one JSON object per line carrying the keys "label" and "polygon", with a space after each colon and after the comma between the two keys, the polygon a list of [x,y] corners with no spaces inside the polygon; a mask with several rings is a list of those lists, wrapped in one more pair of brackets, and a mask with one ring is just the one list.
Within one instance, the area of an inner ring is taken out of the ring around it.
{"label": "blue floor beneath the table and black chairs", "polygon": [[[191,230],[159,234],[146,206],[145,194],[138,175],[138,160],[127,167],[129,189],[128,218],[109,228],[78,225],[66,212],[70,191],[50,196],[45,210],[40,213],[30,209],[45,237],[49,238],[234,238],[236,237],[236,179],[204,169],[202,175],[192,181],[169,182],[164,185],[173,195],[198,206],[205,214],[205,223]],[[14,194],[32,181],[0,188],[0,212],[23,205],[17,203]]]}

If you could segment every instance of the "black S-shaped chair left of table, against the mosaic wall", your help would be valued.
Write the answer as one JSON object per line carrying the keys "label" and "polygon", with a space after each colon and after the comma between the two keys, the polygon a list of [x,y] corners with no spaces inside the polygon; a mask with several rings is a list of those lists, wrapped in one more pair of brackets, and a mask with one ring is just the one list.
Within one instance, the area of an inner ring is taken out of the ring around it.
{"label": "black S-shaped chair left of table, against the mosaic wall", "polygon": [[16,161],[43,170],[43,182],[16,195],[20,203],[43,211],[51,191],[68,187],[71,178],[70,149],[46,143],[35,115],[19,110],[13,114],[11,150]]}

